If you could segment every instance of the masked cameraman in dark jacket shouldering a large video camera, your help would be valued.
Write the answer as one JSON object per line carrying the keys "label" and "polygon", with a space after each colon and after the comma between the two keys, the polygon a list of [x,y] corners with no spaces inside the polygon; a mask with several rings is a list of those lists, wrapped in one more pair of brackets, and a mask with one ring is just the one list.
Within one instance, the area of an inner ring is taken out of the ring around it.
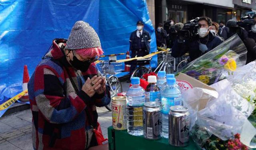
{"label": "masked cameraman in dark jacket shouldering a large video camera", "polygon": [[189,52],[190,61],[192,61],[223,42],[219,36],[214,36],[214,33],[210,32],[212,26],[210,18],[200,17],[198,24],[201,27],[197,30],[198,35],[196,37],[189,40],[178,39],[174,42],[173,57],[180,57]]}

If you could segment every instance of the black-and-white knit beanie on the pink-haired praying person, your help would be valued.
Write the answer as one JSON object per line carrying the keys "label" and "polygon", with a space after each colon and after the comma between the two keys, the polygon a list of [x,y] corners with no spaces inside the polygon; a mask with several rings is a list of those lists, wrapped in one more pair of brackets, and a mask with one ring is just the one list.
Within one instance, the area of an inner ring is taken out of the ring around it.
{"label": "black-and-white knit beanie on the pink-haired praying person", "polygon": [[66,49],[76,50],[95,47],[101,47],[98,34],[88,23],[77,21],[68,37]]}

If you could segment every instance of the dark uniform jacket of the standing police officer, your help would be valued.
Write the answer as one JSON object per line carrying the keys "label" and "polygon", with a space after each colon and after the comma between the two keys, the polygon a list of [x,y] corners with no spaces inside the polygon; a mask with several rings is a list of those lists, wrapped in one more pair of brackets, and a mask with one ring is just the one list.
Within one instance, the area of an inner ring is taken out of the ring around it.
{"label": "dark uniform jacket of the standing police officer", "polygon": [[[130,36],[130,51],[134,52],[135,48],[136,48],[136,36],[137,36],[137,30],[135,30],[134,32],[132,32],[131,36]],[[151,36],[149,34],[148,31],[144,30],[142,31],[142,38],[144,40],[144,43],[146,45],[146,49],[147,49],[147,53],[150,52],[150,41],[151,41]]]}

